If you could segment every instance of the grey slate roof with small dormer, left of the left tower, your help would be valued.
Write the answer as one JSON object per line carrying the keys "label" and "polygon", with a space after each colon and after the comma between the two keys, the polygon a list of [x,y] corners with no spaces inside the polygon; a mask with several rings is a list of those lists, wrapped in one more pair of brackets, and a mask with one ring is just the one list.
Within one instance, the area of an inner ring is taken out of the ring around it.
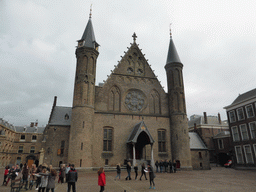
{"label": "grey slate roof with small dormer, left of the left tower", "polygon": [[70,126],[71,114],[71,107],[55,106],[52,111],[52,116],[49,125]]}

